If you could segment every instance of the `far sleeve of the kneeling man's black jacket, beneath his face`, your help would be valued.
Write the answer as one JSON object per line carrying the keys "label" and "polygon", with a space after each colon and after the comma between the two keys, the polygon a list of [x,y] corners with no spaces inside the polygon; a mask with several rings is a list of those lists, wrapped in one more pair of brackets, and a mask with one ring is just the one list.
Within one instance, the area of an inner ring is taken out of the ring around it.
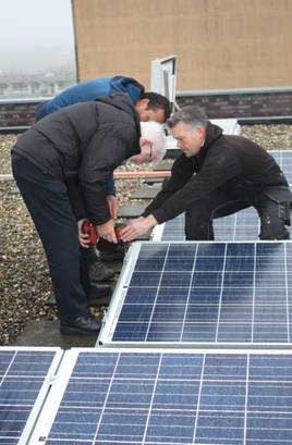
{"label": "far sleeve of the kneeling man's black jacket, beneath his face", "polygon": [[160,190],[154,200],[143,212],[143,217],[153,213],[159,209],[173,194],[180,190],[194,174],[192,163],[183,156],[177,159],[171,169],[171,176],[165,181],[162,190]]}

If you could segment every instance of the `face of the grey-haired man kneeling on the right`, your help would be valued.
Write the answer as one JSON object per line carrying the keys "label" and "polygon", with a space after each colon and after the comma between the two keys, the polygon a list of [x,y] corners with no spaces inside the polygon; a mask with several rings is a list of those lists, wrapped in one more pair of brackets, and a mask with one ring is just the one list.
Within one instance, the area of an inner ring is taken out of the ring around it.
{"label": "face of the grey-haired man kneeling on the right", "polygon": [[171,128],[171,134],[178,140],[178,147],[186,158],[197,154],[205,140],[203,126],[191,127],[184,122],[179,122]]}

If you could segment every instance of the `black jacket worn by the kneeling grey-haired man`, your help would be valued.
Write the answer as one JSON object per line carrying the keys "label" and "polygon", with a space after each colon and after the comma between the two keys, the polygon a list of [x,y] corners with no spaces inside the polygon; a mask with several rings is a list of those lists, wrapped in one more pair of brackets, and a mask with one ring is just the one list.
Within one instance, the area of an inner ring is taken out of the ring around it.
{"label": "black jacket worn by the kneeling grey-haired man", "polygon": [[151,213],[161,224],[216,189],[226,191],[230,199],[248,200],[260,193],[271,199],[280,194],[281,201],[292,198],[282,171],[267,151],[244,137],[224,136],[221,128],[208,123],[198,154],[177,159],[169,181],[143,215]]}

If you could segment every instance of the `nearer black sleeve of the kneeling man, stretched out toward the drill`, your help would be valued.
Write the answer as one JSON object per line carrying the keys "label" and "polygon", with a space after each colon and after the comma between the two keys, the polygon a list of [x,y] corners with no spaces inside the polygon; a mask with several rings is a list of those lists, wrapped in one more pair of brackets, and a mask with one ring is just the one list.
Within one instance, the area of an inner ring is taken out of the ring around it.
{"label": "nearer black sleeve of the kneeling man, stretched out toward the drill", "polygon": [[195,176],[151,214],[159,224],[172,220],[240,173],[241,164],[236,157],[220,147],[220,150],[206,157],[202,170]]}

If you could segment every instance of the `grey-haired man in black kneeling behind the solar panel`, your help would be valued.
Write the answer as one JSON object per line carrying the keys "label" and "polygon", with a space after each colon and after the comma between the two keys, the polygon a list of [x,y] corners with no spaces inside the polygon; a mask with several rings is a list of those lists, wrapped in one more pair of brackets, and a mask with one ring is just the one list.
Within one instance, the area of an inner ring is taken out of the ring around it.
{"label": "grey-haired man in black kneeling behind the solar panel", "polygon": [[193,106],[173,114],[168,125],[182,154],[143,217],[124,228],[125,242],[184,211],[186,239],[214,239],[214,219],[250,206],[260,218],[260,239],[289,238],[292,195],[267,151],[244,137],[222,135]]}

